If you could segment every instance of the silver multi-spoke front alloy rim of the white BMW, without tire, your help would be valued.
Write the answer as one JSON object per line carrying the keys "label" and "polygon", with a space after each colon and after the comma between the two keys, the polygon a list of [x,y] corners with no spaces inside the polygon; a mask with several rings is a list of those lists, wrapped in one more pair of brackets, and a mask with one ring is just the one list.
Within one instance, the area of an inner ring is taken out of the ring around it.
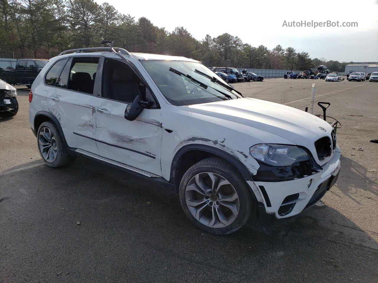
{"label": "silver multi-spoke front alloy rim of the white BMW, without tire", "polygon": [[226,178],[214,172],[192,177],[185,200],[194,218],[211,228],[224,228],[239,214],[239,195]]}

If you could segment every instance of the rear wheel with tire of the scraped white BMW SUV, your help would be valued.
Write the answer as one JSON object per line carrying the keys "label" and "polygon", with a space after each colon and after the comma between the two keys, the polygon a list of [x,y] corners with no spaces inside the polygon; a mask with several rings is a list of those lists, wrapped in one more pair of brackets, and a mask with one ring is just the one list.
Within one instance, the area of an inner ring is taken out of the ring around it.
{"label": "rear wheel with tire of the scraped white BMW SUV", "polygon": [[68,154],[62,136],[53,122],[43,122],[37,132],[39,154],[47,166],[60,167],[71,163],[75,158]]}

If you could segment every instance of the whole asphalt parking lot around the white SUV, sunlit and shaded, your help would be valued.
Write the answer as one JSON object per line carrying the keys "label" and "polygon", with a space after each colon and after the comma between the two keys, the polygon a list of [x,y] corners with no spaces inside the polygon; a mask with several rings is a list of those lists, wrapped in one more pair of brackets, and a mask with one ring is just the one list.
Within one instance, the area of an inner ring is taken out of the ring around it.
{"label": "whole asphalt parking lot around the white SUV, sunlit and shaded", "polygon": [[378,83],[235,88],[304,109],[312,83],[342,125],[336,185],[291,221],[227,236],[195,228],[177,194],[118,169],[43,165],[20,88],[19,113],[0,119],[0,282],[378,282]]}

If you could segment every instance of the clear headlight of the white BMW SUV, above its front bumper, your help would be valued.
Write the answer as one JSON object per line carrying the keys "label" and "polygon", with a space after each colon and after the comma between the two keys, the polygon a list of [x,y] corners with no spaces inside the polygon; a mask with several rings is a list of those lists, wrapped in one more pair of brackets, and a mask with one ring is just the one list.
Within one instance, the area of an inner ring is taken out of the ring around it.
{"label": "clear headlight of the white BMW SUV, above its front bumper", "polygon": [[290,166],[299,161],[310,160],[307,152],[292,145],[261,143],[249,149],[253,158],[271,166]]}

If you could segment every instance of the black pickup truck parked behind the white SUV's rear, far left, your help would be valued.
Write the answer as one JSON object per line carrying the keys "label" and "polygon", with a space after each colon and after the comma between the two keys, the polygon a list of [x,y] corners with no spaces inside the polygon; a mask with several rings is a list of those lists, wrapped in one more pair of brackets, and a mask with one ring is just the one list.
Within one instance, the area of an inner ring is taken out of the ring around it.
{"label": "black pickup truck parked behind the white SUV's rear, far left", "polygon": [[13,85],[31,87],[38,73],[46,65],[45,59],[19,59],[16,68],[7,67],[0,70],[0,78]]}

